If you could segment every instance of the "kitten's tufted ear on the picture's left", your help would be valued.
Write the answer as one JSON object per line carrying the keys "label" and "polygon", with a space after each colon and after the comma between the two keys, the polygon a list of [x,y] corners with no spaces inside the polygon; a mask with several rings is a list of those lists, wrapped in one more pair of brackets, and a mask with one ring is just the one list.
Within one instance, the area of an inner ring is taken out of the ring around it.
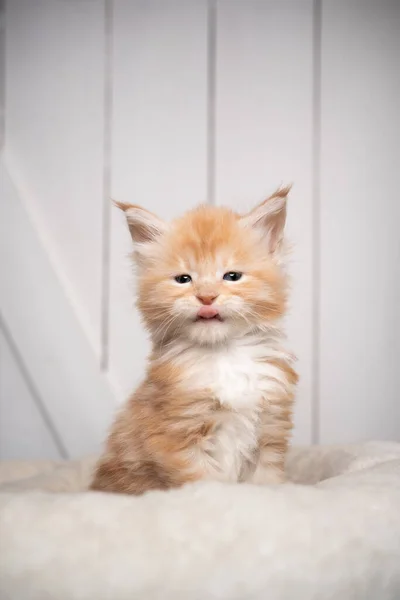
{"label": "kitten's tufted ear on the picture's left", "polygon": [[167,230],[165,221],[140,206],[116,201],[114,204],[125,213],[136,249],[144,244],[154,242]]}

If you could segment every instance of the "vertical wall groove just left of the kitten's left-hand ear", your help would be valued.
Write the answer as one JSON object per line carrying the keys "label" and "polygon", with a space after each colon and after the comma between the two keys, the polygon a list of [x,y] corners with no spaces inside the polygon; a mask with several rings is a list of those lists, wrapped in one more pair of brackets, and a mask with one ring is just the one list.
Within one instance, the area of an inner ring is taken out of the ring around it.
{"label": "vertical wall groove just left of the kitten's left-hand ear", "polygon": [[104,97],[103,97],[103,228],[101,260],[100,368],[109,363],[110,254],[111,254],[111,143],[113,104],[113,0],[104,0]]}

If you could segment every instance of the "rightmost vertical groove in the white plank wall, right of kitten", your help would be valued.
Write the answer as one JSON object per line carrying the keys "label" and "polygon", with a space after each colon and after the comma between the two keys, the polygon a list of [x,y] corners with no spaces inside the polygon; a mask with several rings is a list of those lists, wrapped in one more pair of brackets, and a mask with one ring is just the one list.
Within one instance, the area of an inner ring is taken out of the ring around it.
{"label": "rightmost vertical groove in the white plank wall, right of kitten", "polygon": [[313,383],[311,433],[313,444],[320,442],[320,315],[321,315],[321,27],[322,0],[313,6]]}

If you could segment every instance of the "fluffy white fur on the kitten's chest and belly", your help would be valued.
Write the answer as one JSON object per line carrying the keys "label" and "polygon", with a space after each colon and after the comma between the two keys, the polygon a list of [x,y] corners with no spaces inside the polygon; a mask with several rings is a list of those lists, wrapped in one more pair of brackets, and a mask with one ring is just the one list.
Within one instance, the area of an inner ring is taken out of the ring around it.
{"label": "fluffy white fur on the kitten's chest and belly", "polygon": [[[282,385],[284,374],[268,358],[286,357],[258,339],[224,348],[193,348],[180,355],[192,388],[207,388],[218,399],[218,425],[199,460],[215,479],[238,481],[256,456],[262,400]],[[264,404],[265,406],[265,404]]]}

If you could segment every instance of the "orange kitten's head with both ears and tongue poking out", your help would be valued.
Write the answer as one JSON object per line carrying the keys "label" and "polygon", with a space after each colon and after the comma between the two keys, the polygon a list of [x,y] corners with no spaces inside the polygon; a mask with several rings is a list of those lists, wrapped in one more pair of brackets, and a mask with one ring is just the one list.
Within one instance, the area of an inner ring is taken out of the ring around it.
{"label": "orange kitten's head with both ears and tongue poking out", "polygon": [[117,203],[134,242],[138,306],[153,340],[220,344],[283,315],[288,192],[278,190],[246,215],[200,206],[171,223]]}

